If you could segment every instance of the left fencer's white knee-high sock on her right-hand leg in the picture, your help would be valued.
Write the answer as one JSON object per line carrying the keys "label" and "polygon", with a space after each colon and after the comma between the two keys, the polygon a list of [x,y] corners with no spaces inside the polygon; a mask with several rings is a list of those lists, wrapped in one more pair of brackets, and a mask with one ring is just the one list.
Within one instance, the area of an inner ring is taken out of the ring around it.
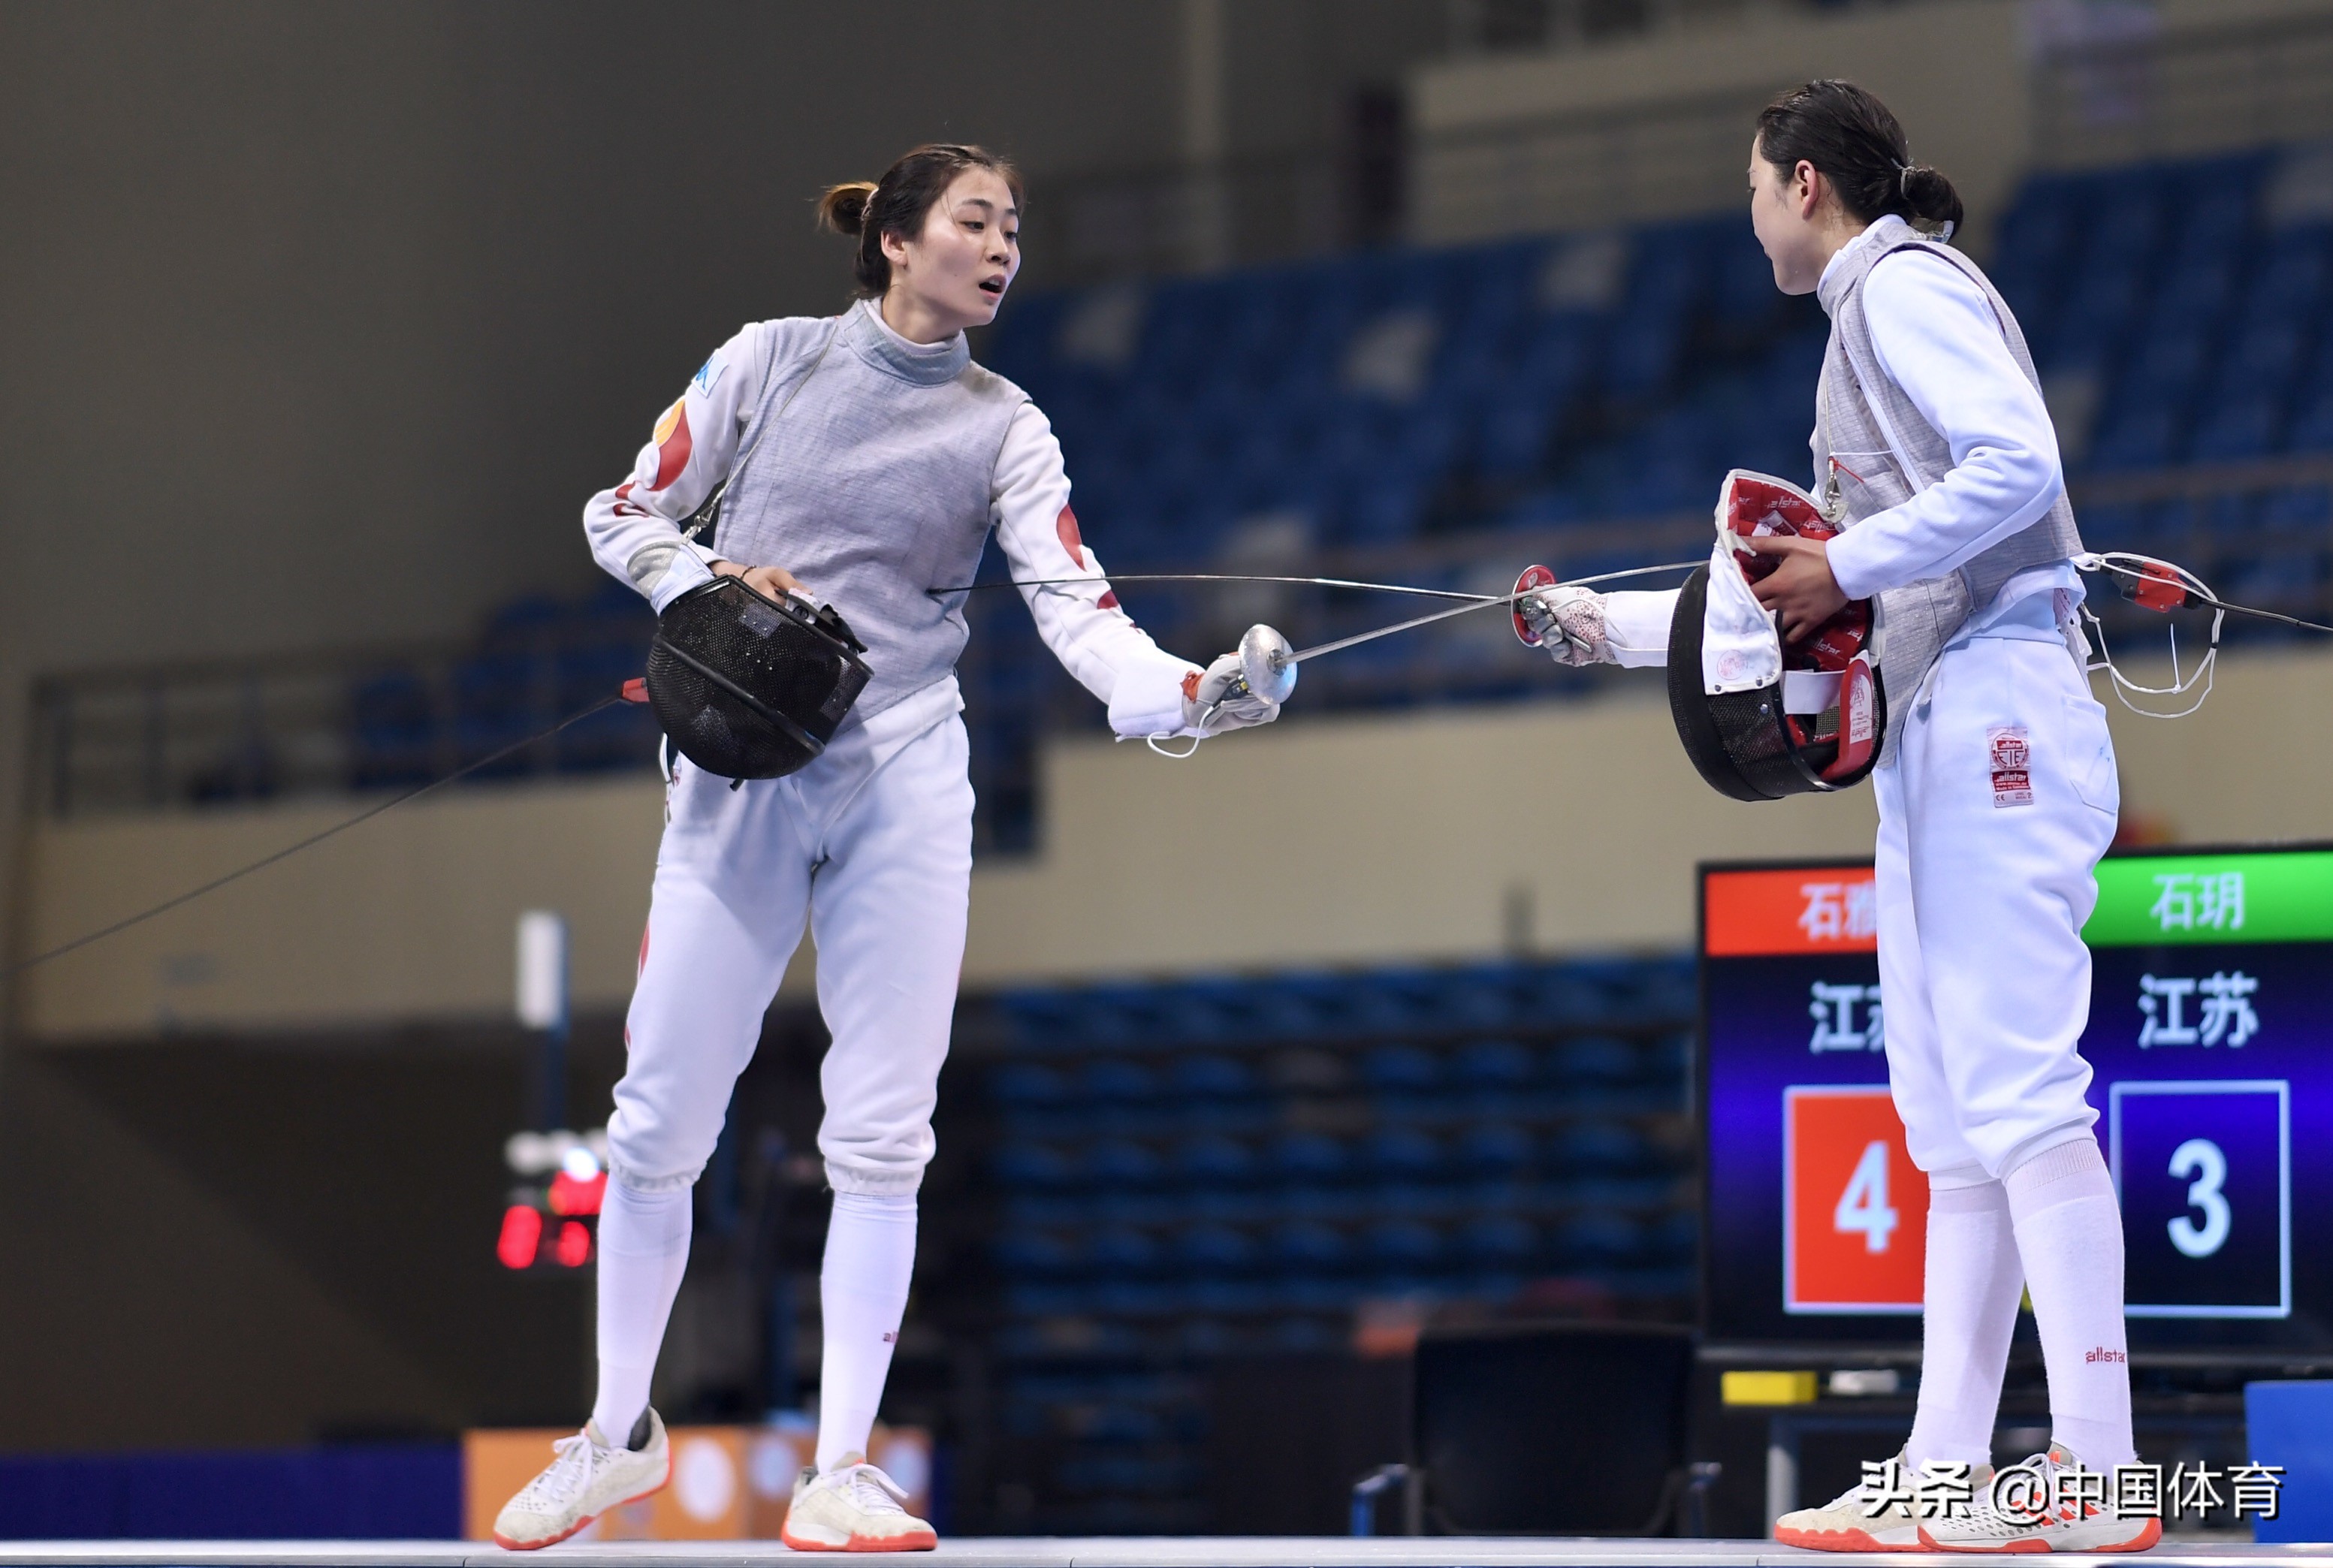
{"label": "left fencer's white knee-high sock on her right-hand leg in the picture", "polygon": [[915,1192],[835,1192],[819,1269],[819,1470],[866,1454],[915,1276]]}

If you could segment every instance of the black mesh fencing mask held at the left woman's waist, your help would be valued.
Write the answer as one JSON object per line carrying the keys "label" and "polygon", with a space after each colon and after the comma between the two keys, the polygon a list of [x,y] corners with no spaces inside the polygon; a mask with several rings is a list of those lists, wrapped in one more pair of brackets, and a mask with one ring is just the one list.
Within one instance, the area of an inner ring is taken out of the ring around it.
{"label": "black mesh fencing mask held at the left woman's waist", "polygon": [[861,653],[833,604],[770,600],[716,576],[656,618],[649,707],[705,772],[779,779],[826,749],[866,691]]}

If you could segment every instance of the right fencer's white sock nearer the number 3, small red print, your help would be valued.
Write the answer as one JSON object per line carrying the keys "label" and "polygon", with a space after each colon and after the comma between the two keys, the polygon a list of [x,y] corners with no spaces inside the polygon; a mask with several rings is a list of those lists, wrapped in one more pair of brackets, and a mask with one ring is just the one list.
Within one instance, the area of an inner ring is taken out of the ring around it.
{"label": "right fencer's white sock nearer the number 3, small red print", "polygon": [[2130,1344],[2123,1330],[2123,1211],[2097,1139],[2046,1148],[2002,1176],[2034,1297],[2048,1416],[2093,1470],[2128,1465]]}

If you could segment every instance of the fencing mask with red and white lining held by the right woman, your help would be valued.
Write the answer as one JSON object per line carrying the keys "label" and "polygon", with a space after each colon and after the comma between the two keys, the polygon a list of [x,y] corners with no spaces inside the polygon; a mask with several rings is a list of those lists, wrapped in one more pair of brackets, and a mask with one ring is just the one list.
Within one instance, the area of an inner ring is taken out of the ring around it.
{"label": "fencing mask with red and white lining held by the right woman", "polygon": [[1852,600],[1813,637],[1782,644],[1750,583],[1775,560],[1743,539],[1838,530],[1796,485],[1733,469],[1717,497],[1717,548],[1677,593],[1668,625],[1668,712],[1710,789],[1780,800],[1859,784],[1880,761],[1880,688],[1871,600]]}

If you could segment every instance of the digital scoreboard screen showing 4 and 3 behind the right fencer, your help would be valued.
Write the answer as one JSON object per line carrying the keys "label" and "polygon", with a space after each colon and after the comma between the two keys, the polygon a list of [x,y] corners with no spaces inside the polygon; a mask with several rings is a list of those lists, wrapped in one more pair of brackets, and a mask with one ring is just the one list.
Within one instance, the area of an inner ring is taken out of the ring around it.
{"label": "digital scoreboard screen showing 4 and 3 behind the right fencer", "polygon": [[[2333,849],[2097,868],[2097,1141],[2137,1349],[2333,1349]],[[1701,868],[1712,1339],[1918,1342],[1927,1181],[1887,1094],[1871,863]]]}

